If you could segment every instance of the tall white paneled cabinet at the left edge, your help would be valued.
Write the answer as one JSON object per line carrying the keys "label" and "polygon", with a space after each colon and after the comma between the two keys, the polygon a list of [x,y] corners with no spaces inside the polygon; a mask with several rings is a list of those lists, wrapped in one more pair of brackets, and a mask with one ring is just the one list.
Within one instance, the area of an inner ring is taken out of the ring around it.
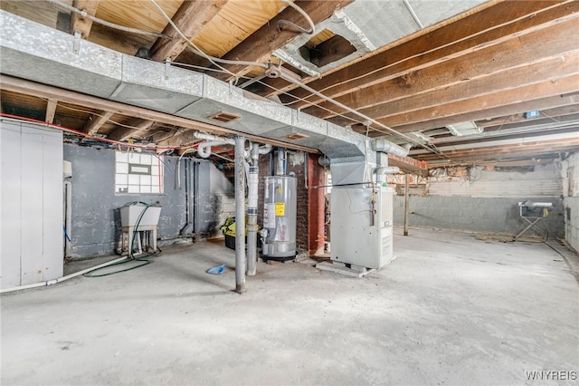
{"label": "tall white paneled cabinet at the left edge", "polygon": [[0,121],[0,288],[62,276],[62,131]]}

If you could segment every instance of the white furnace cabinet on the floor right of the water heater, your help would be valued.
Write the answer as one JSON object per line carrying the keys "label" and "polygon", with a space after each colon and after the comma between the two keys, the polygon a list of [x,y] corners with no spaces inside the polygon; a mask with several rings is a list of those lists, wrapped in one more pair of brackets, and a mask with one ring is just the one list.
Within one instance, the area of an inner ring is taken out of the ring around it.
{"label": "white furnace cabinet on the floor right of the water heater", "polygon": [[394,189],[384,186],[332,188],[331,259],[357,267],[392,262]]}

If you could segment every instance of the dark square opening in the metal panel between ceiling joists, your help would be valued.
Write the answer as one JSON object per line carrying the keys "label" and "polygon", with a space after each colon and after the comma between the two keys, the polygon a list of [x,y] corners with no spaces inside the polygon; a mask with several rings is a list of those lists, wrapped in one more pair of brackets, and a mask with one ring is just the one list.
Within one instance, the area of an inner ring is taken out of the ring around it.
{"label": "dark square opening in the metal panel between ceiling joists", "polygon": [[350,53],[356,53],[356,47],[346,38],[327,29],[299,47],[301,57],[318,68],[337,62]]}

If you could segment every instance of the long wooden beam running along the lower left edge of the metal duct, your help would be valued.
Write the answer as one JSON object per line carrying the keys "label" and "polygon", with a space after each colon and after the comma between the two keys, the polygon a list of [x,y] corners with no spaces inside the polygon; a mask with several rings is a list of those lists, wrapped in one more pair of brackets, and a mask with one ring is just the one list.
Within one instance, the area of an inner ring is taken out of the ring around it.
{"label": "long wooden beam running along the lower left edge of the metal duct", "polygon": [[[225,129],[219,126],[210,125],[204,122],[193,121],[186,118],[176,117],[165,112],[148,110],[142,107],[131,106],[120,103],[118,101],[109,101],[83,94],[81,92],[72,92],[69,90],[62,90],[47,84],[26,81],[24,79],[14,78],[0,73],[0,84],[2,89],[9,92],[17,92],[24,95],[31,95],[34,97],[55,99],[64,103],[71,103],[77,106],[83,106],[90,109],[100,109],[102,111],[113,112],[114,114],[126,115],[129,117],[140,117],[142,119],[157,121],[167,125],[174,125],[189,130],[201,130],[212,134],[220,135],[239,135],[242,134],[249,140],[259,143],[269,143],[273,146],[282,146],[290,150],[301,150],[309,153],[319,153],[319,150],[308,148],[306,146],[299,146],[281,140],[271,140],[257,135],[240,133],[239,131]],[[192,140],[194,143],[195,140]]]}

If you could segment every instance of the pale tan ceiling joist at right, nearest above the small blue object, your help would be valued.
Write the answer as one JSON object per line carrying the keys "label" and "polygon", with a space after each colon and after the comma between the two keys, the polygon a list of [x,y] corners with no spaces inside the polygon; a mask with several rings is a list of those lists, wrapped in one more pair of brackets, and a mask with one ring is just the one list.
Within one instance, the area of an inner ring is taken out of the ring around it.
{"label": "pale tan ceiling joist at right, nearest above the small blue object", "polygon": [[[385,119],[379,119],[377,121],[401,132],[407,131],[401,130],[400,126],[407,126],[412,123],[419,122],[426,123],[425,127],[423,127],[421,130],[435,129],[437,127],[441,127],[434,123],[441,118],[447,118],[449,121],[454,123],[460,122],[456,121],[458,116],[467,117],[463,121],[479,121],[485,117],[481,117],[477,111],[485,111],[508,105],[513,105],[513,109],[511,110],[512,112],[510,112],[512,114],[525,112],[526,110],[520,111],[519,108],[521,106],[519,103],[527,102],[527,105],[533,105],[532,101],[541,100],[543,98],[555,96],[559,96],[559,98],[561,98],[561,94],[565,94],[567,92],[576,92],[577,87],[579,87],[579,75],[572,75],[561,78],[557,81],[540,82],[529,86],[519,87],[513,90],[497,92],[492,95],[484,95],[477,98],[471,98],[469,100],[460,101],[457,103],[440,104],[438,106],[422,109],[420,111],[406,112]],[[530,110],[541,109],[543,109],[543,107],[538,102],[536,102],[535,108],[531,108]],[[495,118],[501,115],[508,114],[492,115],[487,116],[487,118]]]}

